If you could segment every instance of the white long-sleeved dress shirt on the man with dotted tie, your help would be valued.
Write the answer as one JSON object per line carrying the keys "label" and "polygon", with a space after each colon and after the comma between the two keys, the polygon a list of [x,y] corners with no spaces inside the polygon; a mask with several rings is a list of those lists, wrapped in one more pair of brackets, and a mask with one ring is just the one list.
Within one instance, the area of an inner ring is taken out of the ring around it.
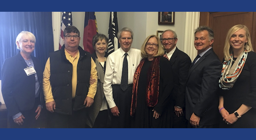
{"label": "white long-sleeved dress shirt on the man with dotted tie", "polygon": [[[103,90],[107,99],[109,108],[116,106],[113,99],[112,86],[114,84],[121,84],[123,61],[126,52],[120,47],[116,51],[112,52],[106,61],[106,71],[104,77]],[[130,48],[127,52],[128,60],[128,84],[133,83],[134,72],[141,61],[140,50],[136,48]]]}

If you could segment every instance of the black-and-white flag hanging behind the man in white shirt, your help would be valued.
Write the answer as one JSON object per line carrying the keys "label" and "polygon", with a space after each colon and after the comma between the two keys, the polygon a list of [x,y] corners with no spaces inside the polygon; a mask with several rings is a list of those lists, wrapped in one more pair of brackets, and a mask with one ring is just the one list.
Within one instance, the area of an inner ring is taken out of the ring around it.
{"label": "black-and-white flag hanging behind the man in white shirt", "polygon": [[117,38],[118,23],[117,12],[110,12],[109,27],[108,27],[108,50],[107,54],[114,52],[120,47],[120,43]]}

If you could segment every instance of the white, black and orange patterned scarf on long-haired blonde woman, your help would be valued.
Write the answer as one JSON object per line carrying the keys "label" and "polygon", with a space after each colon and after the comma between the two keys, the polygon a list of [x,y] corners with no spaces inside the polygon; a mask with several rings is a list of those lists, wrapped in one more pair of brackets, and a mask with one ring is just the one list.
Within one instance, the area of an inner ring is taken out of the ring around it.
{"label": "white, black and orange patterned scarf on long-haired blonde woman", "polygon": [[228,61],[223,62],[222,74],[219,80],[219,86],[221,89],[230,90],[233,87],[235,81],[237,80],[244,68],[245,61],[248,55],[248,53],[245,51],[243,51],[240,56],[237,57],[233,65],[233,54],[230,55],[231,58]]}

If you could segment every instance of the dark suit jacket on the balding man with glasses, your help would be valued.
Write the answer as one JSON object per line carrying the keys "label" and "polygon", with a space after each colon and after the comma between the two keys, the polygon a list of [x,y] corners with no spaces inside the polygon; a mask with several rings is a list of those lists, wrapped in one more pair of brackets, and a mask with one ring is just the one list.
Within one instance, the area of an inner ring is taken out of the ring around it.
{"label": "dark suit jacket on the balding man with glasses", "polygon": [[170,58],[172,66],[174,90],[173,101],[174,105],[185,107],[185,88],[188,78],[189,69],[191,66],[191,59],[185,52],[179,50],[177,47]]}

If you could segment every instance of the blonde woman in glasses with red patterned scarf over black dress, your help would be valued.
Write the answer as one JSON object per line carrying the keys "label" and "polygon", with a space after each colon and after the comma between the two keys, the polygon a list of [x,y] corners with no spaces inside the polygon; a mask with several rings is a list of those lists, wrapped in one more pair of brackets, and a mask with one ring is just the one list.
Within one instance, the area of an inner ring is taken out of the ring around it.
{"label": "blonde woman in glasses with red patterned scarf over black dress", "polygon": [[141,47],[141,57],[133,78],[130,115],[133,128],[170,128],[173,109],[172,69],[160,39],[150,35]]}

